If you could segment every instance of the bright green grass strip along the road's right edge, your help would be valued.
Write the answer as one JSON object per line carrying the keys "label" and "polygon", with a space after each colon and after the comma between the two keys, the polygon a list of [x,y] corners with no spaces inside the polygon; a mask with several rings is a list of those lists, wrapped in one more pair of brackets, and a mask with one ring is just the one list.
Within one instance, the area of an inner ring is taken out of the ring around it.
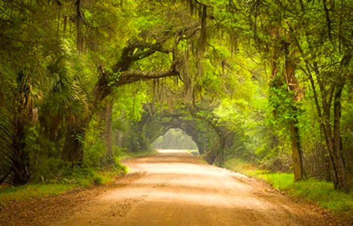
{"label": "bright green grass strip along the road's right edge", "polygon": [[295,183],[293,174],[258,170],[256,166],[240,159],[230,159],[224,163],[224,167],[265,180],[280,191],[315,202],[344,219],[353,220],[353,191],[346,194],[335,190],[332,183],[314,179]]}

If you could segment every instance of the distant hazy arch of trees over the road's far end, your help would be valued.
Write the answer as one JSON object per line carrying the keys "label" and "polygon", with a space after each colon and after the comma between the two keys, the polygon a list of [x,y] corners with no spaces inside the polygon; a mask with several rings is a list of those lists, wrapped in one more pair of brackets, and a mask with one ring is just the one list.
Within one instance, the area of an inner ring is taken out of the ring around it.
{"label": "distant hazy arch of trees over the road's far end", "polygon": [[[183,108],[173,111],[151,112],[145,107],[140,122],[134,125],[135,141],[131,150],[145,149],[170,129],[181,129],[196,143],[200,154],[210,164],[220,165],[224,151],[233,147],[235,133],[219,125],[217,118],[208,112],[206,118],[200,109]],[[212,118],[209,118],[211,116]]]}

